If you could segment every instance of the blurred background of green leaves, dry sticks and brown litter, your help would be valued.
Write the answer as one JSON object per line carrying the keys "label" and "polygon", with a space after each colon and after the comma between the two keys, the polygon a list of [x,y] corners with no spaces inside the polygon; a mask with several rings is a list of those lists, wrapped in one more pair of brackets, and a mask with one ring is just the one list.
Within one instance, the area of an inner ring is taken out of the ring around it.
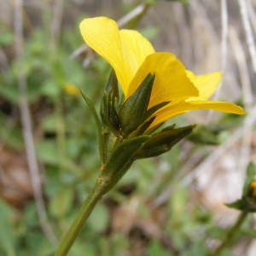
{"label": "blurred background of green leaves, dry sticks and brown litter", "polygon": [[[207,255],[234,223],[256,161],[255,0],[0,0],[0,255],[51,255],[99,172],[96,107],[110,67],[79,34],[107,15],[195,73],[223,72],[214,99],[247,114],[196,111],[172,151],[135,163],[91,214],[71,256]],[[255,255],[253,216],[227,255]]]}

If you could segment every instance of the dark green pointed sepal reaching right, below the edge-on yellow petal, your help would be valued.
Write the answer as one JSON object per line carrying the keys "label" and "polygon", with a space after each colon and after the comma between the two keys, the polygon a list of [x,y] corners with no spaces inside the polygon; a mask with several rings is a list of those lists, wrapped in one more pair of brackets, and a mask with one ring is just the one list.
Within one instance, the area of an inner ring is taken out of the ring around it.
{"label": "dark green pointed sepal reaching right, below the edge-on yellow petal", "polygon": [[164,154],[169,151],[176,143],[183,137],[189,135],[195,125],[189,125],[182,128],[160,131],[150,137],[150,139],[143,144],[136,154],[137,159],[148,158]]}

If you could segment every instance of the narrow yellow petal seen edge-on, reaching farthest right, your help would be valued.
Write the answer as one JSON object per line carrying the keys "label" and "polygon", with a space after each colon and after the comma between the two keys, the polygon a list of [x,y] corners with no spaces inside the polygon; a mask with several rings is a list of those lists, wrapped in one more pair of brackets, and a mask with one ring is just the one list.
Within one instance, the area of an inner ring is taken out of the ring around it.
{"label": "narrow yellow petal seen edge-on, reaching farthest right", "polygon": [[231,102],[216,102],[216,101],[194,101],[194,102],[180,102],[177,104],[168,104],[165,108],[161,108],[156,113],[154,123],[150,125],[158,125],[167,119],[171,119],[182,113],[187,113],[198,109],[213,109],[225,113],[244,114],[244,109]]}

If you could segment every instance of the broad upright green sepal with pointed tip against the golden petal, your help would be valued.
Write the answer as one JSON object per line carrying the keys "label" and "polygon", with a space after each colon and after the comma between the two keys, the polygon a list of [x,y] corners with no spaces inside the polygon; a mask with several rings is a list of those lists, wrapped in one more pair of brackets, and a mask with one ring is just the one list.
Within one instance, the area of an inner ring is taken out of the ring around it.
{"label": "broad upright green sepal with pointed tip against the golden petal", "polygon": [[120,108],[121,131],[126,137],[148,118],[148,103],[154,84],[154,74],[149,73],[138,89]]}

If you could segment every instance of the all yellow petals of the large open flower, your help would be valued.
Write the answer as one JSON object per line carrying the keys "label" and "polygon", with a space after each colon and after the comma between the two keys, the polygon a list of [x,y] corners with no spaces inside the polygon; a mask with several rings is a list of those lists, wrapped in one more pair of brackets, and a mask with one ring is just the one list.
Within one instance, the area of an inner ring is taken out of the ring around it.
{"label": "all yellow petals of the large open flower", "polygon": [[221,73],[196,76],[186,70],[175,55],[155,52],[154,47],[137,31],[121,29],[108,17],[84,19],[80,32],[86,44],[108,61],[116,73],[125,98],[131,96],[148,73],[154,73],[154,85],[148,108],[170,102],[160,108],[150,125],[158,125],[174,116],[196,109],[214,109],[243,114],[231,102],[209,101],[221,80]]}

